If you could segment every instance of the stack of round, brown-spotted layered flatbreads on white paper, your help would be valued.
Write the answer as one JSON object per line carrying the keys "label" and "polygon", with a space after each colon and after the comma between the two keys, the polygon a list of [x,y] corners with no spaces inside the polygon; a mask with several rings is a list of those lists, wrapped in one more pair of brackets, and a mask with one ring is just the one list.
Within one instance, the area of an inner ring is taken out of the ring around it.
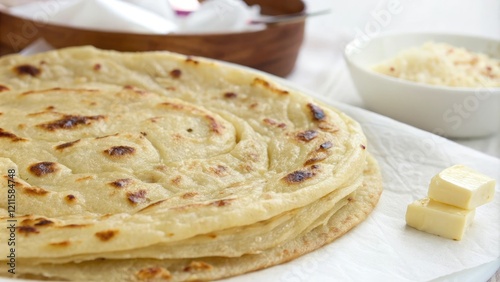
{"label": "stack of round, brown-spotted layered flatbreads on white paper", "polygon": [[367,150],[345,114],[227,64],[92,47],[0,58],[0,275],[9,219],[16,278],[213,280],[292,260],[373,210]]}

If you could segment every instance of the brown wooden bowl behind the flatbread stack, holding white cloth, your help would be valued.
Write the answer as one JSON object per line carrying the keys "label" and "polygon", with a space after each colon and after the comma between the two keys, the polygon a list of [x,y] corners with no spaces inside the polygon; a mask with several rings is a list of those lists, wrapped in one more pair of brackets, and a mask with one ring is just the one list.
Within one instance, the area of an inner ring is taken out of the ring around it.
{"label": "brown wooden bowl behind the flatbread stack, holding white cloth", "polygon": [[[304,11],[300,0],[246,0],[265,15]],[[220,34],[134,34],[88,30],[19,18],[0,11],[0,55],[18,52],[38,38],[55,48],[93,45],[118,51],[168,50],[237,63],[278,76],[295,65],[304,37],[305,20],[271,24],[263,30]]]}

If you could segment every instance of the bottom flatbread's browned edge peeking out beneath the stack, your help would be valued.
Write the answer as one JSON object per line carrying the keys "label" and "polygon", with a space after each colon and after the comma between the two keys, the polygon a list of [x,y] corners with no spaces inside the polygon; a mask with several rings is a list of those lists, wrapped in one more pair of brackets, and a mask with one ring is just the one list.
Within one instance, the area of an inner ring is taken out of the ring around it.
{"label": "bottom flatbread's browned edge peeking out beneath the stack", "polygon": [[[237,258],[205,257],[195,260],[96,260],[84,263],[23,266],[22,273],[36,273],[77,281],[210,281],[288,262],[342,236],[372,212],[382,192],[377,163],[369,157],[362,187],[348,203],[311,232],[260,254]],[[335,246],[329,246],[333,251]],[[110,271],[112,270],[112,271]]]}

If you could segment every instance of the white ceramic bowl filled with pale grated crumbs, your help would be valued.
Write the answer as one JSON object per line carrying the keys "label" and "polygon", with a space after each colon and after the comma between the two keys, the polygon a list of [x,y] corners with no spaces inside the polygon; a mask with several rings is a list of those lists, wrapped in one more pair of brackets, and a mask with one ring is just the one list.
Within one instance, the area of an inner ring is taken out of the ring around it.
{"label": "white ceramic bowl filled with pale grated crumbs", "polygon": [[500,41],[475,36],[406,33],[353,41],[346,46],[344,55],[365,106],[447,137],[481,137],[499,131],[500,88],[433,86],[371,70],[400,51],[428,41],[500,58]]}

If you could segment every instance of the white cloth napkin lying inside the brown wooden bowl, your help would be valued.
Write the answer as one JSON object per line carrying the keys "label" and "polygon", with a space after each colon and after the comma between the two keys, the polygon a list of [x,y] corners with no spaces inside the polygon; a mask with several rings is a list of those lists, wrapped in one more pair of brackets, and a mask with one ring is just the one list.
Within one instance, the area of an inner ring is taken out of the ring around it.
{"label": "white cloth napkin lying inside the brown wooden bowl", "polygon": [[242,0],[204,1],[183,17],[176,16],[167,0],[49,0],[12,6],[8,11],[59,25],[132,33],[234,32],[264,27],[249,24],[260,8],[249,7]]}

